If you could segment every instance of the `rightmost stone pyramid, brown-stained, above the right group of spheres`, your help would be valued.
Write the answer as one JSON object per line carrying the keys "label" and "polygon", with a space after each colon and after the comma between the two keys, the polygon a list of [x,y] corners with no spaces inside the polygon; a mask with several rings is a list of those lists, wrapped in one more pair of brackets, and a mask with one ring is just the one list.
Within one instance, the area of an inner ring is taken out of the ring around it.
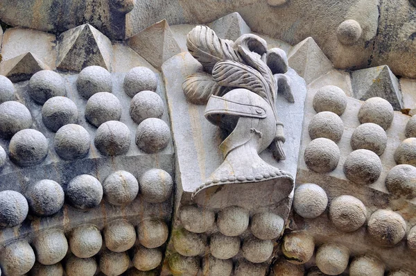
{"label": "rightmost stone pyramid, brown-stained, above the right group of spheres", "polygon": [[365,101],[368,98],[385,98],[395,110],[404,108],[399,80],[387,65],[352,72],[354,98]]}

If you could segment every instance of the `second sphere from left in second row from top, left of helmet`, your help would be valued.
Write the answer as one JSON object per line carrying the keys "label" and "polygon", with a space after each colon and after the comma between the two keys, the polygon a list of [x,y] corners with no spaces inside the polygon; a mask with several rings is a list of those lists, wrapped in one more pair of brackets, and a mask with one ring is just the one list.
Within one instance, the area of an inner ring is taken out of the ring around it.
{"label": "second sphere from left in second row from top, left of helmet", "polygon": [[42,107],[42,121],[46,128],[57,132],[62,126],[78,121],[78,108],[70,98],[49,98]]}

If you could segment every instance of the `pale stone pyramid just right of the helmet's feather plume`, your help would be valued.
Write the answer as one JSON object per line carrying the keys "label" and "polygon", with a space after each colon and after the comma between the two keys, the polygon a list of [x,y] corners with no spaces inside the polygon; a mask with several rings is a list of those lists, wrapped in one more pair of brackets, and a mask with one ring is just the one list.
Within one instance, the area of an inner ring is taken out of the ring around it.
{"label": "pale stone pyramid just right of the helmet's feather plume", "polygon": [[289,51],[289,67],[302,76],[306,84],[331,71],[332,62],[322,52],[312,37],[302,40]]}

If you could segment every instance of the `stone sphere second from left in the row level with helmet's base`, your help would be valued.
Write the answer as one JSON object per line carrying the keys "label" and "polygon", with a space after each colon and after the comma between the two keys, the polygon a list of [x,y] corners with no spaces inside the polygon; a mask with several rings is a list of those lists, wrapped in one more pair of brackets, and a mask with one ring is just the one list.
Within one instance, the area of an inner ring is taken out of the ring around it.
{"label": "stone sphere second from left in the row level with helmet's base", "polygon": [[64,206],[64,190],[53,180],[36,182],[26,193],[31,211],[37,216],[51,216]]}

